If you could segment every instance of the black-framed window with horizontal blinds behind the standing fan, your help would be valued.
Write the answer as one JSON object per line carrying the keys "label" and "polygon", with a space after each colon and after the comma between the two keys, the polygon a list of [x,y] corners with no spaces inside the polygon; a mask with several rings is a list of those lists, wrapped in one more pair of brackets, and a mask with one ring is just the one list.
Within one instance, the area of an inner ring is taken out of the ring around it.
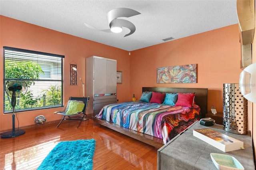
{"label": "black-framed window with horizontal blinds behind the standing fan", "polygon": [[[63,106],[63,55],[4,47],[4,113]],[[17,84],[26,90],[16,90]],[[26,93],[25,93],[26,92]]]}

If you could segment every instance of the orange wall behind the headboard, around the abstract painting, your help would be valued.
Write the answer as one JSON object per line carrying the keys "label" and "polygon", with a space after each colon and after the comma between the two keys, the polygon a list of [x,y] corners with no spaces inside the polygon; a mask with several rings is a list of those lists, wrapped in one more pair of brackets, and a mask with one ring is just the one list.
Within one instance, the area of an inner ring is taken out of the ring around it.
{"label": "orange wall behind the headboard, around the abstract painting", "polygon": [[[174,36],[175,37],[175,36]],[[198,64],[198,83],[156,83],[156,69]],[[208,111],[223,111],[223,83],[238,83],[240,42],[238,24],[131,52],[130,96],[142,87],[208,88]]]}

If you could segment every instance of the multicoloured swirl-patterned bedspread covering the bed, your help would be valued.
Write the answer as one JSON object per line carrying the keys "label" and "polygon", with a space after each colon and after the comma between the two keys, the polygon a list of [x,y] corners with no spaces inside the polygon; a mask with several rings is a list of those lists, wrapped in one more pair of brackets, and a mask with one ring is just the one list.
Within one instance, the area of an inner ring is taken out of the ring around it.
{"label": "multicoloured swirl-patterned bedspread covering the bed", "polygon": [[95,117],[163,139],[164,144],[200,117],[200,107],[170,106],[141,101],[104,106]]}

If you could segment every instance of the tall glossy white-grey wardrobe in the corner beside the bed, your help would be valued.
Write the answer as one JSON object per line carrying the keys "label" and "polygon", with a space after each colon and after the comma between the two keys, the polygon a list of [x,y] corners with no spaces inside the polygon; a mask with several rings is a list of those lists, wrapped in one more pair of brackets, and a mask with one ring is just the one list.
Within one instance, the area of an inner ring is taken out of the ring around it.
{"label": "tall glossy white-grey wardrobe in the corner beside the bed", "polygon": [[104,105],[116,103],[116,60],[86,58],[86,96],[90,96],[87,115],[97,115]]}

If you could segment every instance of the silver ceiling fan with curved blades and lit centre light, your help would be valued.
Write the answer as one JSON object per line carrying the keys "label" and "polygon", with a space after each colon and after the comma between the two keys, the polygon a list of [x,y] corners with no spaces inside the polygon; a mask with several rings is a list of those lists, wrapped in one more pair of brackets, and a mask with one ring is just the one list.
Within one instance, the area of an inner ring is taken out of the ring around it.
{"label": "silver ceiling fan with curved blades and lit centre light", "polygon": [[[133,34],[136,30],[136,27],[134,26],[134,24],[132,24],[132,22],[124,20],[124,19],[119,19],[120,17],[131,17],[131,16],[136,16],[139,15],[140,12],[132,10],[130,8],[115,8],[113,10],[111,10],[110,12],[108,12],[107,14],[107,19],[108,19],[108,24],[109,24],[109,28],[110,29],[106,29],[106,30],[99,30],[102,32],[114,32],[114,33],[120,33],[122,32],[122,27],[128,28],[130,30],[130,33],[126,34],[124,37],[126,36],[130,36],[131,34]],[[90,29],[93,30],[98,30],[97,28],[84,23],[85,26],[87,26]]]}

